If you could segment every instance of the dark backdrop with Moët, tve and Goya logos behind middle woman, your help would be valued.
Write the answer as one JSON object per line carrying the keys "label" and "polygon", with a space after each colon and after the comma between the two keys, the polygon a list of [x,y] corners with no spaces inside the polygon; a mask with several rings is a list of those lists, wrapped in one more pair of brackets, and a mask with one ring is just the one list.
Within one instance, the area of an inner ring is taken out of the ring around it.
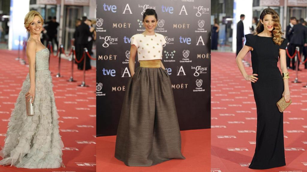
{"label": "dark backdrop with Mo\u00ebt, tve and Goya logos behind middle woman", "polygon": [[[155,9],[165,37],[163,65],[181,130],[210,128],[210,0],[97,0],[97,136],[116,135],[130,77],[130,38]],[[136,67],[139,66],[136,56]]]}

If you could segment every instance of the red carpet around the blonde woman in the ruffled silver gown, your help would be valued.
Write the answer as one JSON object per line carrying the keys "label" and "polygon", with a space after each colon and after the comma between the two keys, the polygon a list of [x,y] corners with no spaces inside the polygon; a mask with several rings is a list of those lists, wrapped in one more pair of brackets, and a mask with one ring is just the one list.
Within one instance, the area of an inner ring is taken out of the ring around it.
{"label": "red carpet around the blonde woman in the ruffled silver gown", "polygon": [[[14,108],[14,103],[20,92],[22,82],[29,69],[15,60],[17,51],[0,50],[0,146],[3,148],[7,130],[8,118]],[[56,106],[60,115],[60,135],[63,148],[63,162],[66,168],[58,169],[23,169],[0,166],[1,172],[90,172],[96,171],[96,96],[95,96],[95,68],[86,71],[86,84],[90,87],[81,88],[83,71],[78,71],[75,65],[74,79],[77,82],[67,82],[71,75],[71,62],[61,61],[61,75],[58,72],[58,58],[51,58],[53,91]]]}

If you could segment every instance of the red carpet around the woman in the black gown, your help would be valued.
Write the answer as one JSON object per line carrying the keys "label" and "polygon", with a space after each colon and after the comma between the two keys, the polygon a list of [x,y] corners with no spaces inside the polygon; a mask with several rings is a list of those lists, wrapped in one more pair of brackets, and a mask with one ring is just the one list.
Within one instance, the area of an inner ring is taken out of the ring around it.
{"label": "red carpet around the woman in the black gown", "polygon": [[[248,166],[255,151],[257,114],[251,82],[241,75],[233,53],[212,53],[211,66],[211,172],[306,172],[307,69],[300,66],[304,83],[289,82],[293,103],[284,112],[286,166],[252,170]],[[252,73],[251,67],[245,69]],[[289,72],[293,81],[295,72]]]}

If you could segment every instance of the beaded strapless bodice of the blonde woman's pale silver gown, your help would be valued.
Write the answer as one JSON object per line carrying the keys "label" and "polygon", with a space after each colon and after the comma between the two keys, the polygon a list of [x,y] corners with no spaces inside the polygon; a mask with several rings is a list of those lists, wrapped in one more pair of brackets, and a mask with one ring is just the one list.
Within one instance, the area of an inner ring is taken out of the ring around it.
{"label": "beaded strapless bodice of the blonde woman's pale silver gown", "polygon": [[36,52],[35,71],[49,69],[49,50],[48,48]]}

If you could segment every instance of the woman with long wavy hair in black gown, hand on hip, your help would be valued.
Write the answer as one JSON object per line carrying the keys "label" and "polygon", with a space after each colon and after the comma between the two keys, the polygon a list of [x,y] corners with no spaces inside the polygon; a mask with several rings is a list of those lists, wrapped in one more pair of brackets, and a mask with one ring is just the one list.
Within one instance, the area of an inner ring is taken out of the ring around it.
{"label": "woman with long wavy hair in black gown, hand on hip", "polygon": [[[276,103],[282,97],[290,101],[286,46],[278,14],[270,8],[260,15],[255,35],[245,35],[246,43],[236,62],[247,81],[251,81],[257,107],[257,136],[254,157],[249,168],[269,169],[285,166],[283,113]],[[253,74],[248,75],[242,60],[251,51]],[[282,74],[277,67],[278,57]]]}

